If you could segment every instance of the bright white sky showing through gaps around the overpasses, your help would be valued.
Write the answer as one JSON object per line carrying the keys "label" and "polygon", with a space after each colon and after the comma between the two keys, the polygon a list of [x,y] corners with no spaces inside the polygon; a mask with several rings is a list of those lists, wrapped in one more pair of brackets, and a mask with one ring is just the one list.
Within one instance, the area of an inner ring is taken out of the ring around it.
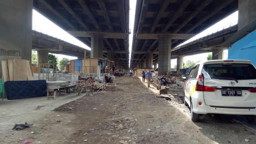
{"label": "bright white sky showing through gaps around the overpasses", "polygon": [[[132,50],[132,40],[133,40],[132,36],[133,36],[133,24],[134,24],[134,18],[135,18],[135,8],[136,8],[136,3],[132,2],[132,0],[130,0],[130,28],[129,28],[130,32],[131,32],[131,34],[129,36],[130,54],[131,54],[131,50]],[[203,36],[207,36],[208,34],[212,34],[214,32],[222,30],[224,28],[228,28],[229,26],[235,25],[235,24],[237,24],[237,20],[238,20],[238,11],[234,12],[233,14],[231,14],[224,20],[216,23],[214,26],[211,26],[210,28],[203,31],[202,33],[194,36],[193,38],[184,42],[183,44],[188,43],[192,40],[196,40]],[[51,22],[50,20],[48,20],[47,18],[45,18],[44,16],[42,16],[41,14],[36,12],[36,10],[33,10],[32,29],[90,50],[90,48],[88,46],[86,46],[85,44],[83,44],[82,42],[80,42],[79,40],[77,40],[76,38],[74,38],[73,36],[68,34],[67,32],[65,32],[64,30],[59,28],[56,24],[54,24],[53,22]],[[184,56],[183,62],[186,62],[187,60],[192,60],[194,62],[197,62],[198,60],[204,61],[204,60],[207,60],[206,58],[207,58],[208,54],[209,53],[196,54],[193,56]],[[211,52],[210,52],[210,54],[211,54]],[[228,58],[228,50],[224,50],[223,56],[224,56],[223,59]],[[62,58],[68,58],[69,60],[77,59],[76,57],[73,57],[73,56],[65,56],[65,55],[61,55],[61,54],[58,54],[57,57],[58,57],[58,60],[61,60]],[[129,62],[130,62],[130,56],[129,56]],[[174,65],[176,65],[176,64],[177,64],[176,59],[171,60],[171,68],[174,68]]]}

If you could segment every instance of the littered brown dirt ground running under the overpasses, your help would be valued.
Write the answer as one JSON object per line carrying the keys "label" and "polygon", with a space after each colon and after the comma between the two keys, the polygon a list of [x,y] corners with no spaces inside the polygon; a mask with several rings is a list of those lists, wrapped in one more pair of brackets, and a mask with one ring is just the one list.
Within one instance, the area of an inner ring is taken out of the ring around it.
{"label": "littered brown dirt ground running under the overpasses", "polygon": [[[30,144],[256,143],[254,133],[223,115],[215,118],[204,115],[200,122],[192,122],[190,110],[178,99],[182,97],[182,87],[171,88],[168,94],[171,100],[166,100],[156,97],[159,90],[152,85],[147,88],[142,78],[123,76],[116,77],[114,82],[116,92],[83,93],[54,110],[46,111],[54,104],[38,102],[35,104],[38,107],[28,106],[25,111],[30,116],[26,122],[32,125],[24,130],[12,130],[10,120],[15,115],[3,119],[8,110],[3,112],[0,107],[1,123],[9,120],[8,124],[1,125],[0,144],[22,144],[25,140],[32,141]],[[48,101],[58,105],[58,97]],[[22,120],[26,120],[26,116]]]}

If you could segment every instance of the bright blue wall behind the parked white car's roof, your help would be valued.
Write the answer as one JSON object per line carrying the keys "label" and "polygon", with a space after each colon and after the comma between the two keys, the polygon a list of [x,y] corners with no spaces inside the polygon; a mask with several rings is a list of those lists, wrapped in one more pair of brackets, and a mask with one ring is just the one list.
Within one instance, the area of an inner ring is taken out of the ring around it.
{"label": "bright blue wall behind the parked white car's roof", "polygon": [[256,66],[256,30],[238,40],[228,50],[228,59],[250,60]]}

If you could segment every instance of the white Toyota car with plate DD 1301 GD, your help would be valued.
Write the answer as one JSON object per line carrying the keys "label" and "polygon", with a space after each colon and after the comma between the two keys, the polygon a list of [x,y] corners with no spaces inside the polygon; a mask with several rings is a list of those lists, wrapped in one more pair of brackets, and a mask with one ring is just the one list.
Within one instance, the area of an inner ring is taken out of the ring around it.
{"label": "white Toyota car with plate DD 1301 GD", "polygon": [[200,114],[238,114],[256,124],[256,68],[251,61],[200,62],[182,79],[192,121],[198,122]]}

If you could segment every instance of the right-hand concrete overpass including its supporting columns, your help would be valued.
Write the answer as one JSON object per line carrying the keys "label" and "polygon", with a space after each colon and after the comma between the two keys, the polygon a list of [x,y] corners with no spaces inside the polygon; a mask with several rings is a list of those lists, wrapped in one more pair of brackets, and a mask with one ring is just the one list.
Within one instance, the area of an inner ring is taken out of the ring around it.
{"label": "right-hand concrete overpass including its supporting columns", "polygon": [[[214,58],[221,59],[227,47],[212,46],[209,50],[205,43],[183,50],[173,48],[237,10],[239,31],[256,19],[255,12],[248,11],[255,7],[255,1],[250,0],[137,0],[130,68],[158,64],[158,73],[169,72],[172,58],[177,58],[180,68],[184,55],[199,52],[212,51],[213,56],[217,54]],[[220,42],[228,39],[222,37]]]}

